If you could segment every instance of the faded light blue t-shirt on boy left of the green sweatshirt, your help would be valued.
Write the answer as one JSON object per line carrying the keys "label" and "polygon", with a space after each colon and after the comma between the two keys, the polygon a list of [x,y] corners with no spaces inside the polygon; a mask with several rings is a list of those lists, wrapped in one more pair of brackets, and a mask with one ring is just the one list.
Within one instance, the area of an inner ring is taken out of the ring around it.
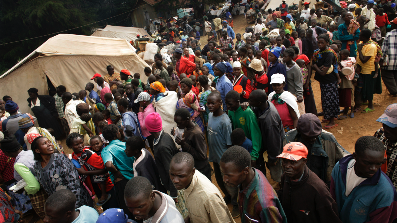
{"label": "faded light blue t-shirt on boy left of the green sweatshirt", "polygon": [[226,113],[214,117],[208,115],[208,145],[210,146],[208,160],[219,163],[227,145],[231,145],[231,121]]}

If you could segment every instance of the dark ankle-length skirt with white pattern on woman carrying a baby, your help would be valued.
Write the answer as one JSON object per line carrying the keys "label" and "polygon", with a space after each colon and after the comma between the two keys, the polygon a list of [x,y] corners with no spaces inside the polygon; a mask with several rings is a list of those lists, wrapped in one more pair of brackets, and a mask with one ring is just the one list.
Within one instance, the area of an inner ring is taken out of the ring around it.
{"label": "dark ankle-length skirt with white pattern on woman carrying a baby", "polygon": [[337,118],[339,115],[339,94],[337,81],[329,84],[320,83],[321,107],[324,119]]}

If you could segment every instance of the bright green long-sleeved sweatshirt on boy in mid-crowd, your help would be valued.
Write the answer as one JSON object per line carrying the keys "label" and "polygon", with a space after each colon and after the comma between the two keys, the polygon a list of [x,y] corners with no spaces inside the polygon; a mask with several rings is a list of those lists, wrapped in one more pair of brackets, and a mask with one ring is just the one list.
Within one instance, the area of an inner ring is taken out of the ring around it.
{"label": "bright green long-sleeved sweatshirt on boy in mid-crowd", "polygon": [[247,108],[243,111],[243,109],[239,107],[234,112],[229,110],[229,118],[231,127],[233,129],[243,129],[245,136],[252,141],[251,160],[257,160],[262,148],[262,134],[260,133],[258,119],[256,119],[255,113],[252,112],[251,108]]}

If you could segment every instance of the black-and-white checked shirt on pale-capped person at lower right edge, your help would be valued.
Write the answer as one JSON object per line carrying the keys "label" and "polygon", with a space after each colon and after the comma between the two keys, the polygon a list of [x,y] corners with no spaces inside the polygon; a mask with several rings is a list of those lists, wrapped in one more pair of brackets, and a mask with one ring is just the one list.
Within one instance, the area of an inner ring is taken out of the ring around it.
{"label": "black-and-white checked shirt on pale-capped person at lower right edge", "polygon": [[397,175],[395,174],[395,172],[397,171],[397,161],[395,161],[397,154],[397,142],[391,143],[386,138],[385,133],[383,132],[383,128],[378,129],[374,136],[378,138],[385,146],[387,156],[386,175],[390,178],[391,182],[393,182],[393,185],[397,190]]}

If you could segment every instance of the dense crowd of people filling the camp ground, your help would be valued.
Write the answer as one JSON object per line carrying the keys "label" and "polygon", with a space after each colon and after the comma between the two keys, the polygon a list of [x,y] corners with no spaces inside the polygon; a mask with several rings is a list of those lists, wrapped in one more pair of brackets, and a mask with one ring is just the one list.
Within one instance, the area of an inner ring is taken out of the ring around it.
{"label": "dense crowd of people filling the camp ground", "polygon": [[181,42],[168,25],[146,83],[108,65],[79,92],[30,88],[32,113],[3,96],[0,222],[395,222],[397,104],[353,154],[327,132],[373,112],[382,80],[397,96],[395,1],[329,16],[301,0],[297,12],[283,1],[262,14],[265,3],[251,2],[243,35],[232,7],[205,16],[202,49],[190,25]]}

